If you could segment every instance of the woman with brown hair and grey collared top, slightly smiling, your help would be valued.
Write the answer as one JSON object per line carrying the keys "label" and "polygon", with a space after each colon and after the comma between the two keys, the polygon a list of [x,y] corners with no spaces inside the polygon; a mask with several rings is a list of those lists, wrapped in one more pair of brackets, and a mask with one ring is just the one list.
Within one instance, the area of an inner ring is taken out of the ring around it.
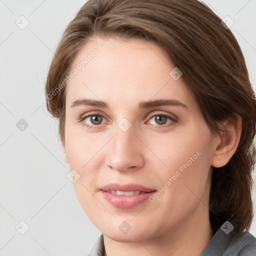
{"label": "woman with brown hair and grey collared top, slightly smiling", "polygon": [[88,255],[256,255],[256,107],[241,49],[197,0],[89,0],[46,81]]}

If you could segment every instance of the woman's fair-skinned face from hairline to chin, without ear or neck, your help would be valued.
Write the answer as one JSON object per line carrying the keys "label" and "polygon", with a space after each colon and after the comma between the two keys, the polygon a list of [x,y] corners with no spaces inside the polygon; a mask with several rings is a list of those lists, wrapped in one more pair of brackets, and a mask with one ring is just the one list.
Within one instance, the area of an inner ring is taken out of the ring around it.
{"label": "woman's fair-skinned face from hairline to chin, without ear or neck", "polygon": [[[208,217],[212,134],[173,68],[161,48],[139,39],[95,37],[72,63],[63,149],[82,208],[115,240],[150,239]],[[116,192],[143,190],[121,186],[131,183],[153,192]]]}

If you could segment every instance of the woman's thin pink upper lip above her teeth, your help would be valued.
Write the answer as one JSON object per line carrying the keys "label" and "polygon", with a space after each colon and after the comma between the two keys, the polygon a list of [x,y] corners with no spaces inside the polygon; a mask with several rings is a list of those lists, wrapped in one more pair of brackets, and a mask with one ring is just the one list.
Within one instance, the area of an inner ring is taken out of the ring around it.
{"label": "woman's thin pink upper lip above her teeth", "polygon": [[153,188],[148,188],[139,184],[129,183],[129,184],[118,184],[118,183],[110,183],[100,187],[101,190],[119,190],[119,191],[143,191],[143,192],[151,192],[155,191]]}

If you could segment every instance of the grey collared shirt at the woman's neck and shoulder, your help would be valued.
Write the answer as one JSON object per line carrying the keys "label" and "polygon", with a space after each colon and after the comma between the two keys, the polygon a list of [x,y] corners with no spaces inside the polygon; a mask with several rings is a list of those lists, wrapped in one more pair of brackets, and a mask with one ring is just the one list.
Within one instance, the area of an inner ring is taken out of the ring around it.
{"label": "grey collared shirt at the woman's neck and shoulder", "polygon": [[[101,234],[87,256],[103,256],[104,242]],[[249,232],[237,237],[234,230],[226,234],[219,228],[200,256],[256,256],[256,239]]]}

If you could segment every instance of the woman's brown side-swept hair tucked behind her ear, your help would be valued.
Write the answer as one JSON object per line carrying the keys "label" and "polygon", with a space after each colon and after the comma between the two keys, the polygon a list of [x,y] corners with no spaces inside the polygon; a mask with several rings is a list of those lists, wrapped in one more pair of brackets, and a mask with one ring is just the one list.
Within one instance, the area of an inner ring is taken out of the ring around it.
{"label": "woman's brown side-swept hair tucked behind her ear", "polygon": [[197,0],[88,0],[64,30],[46,79],[47,110],[59,119],[63,144],[66,89],[60,84],[86,42],[110,36],[161,47],[182,71],[212,134],[220,134],[220,121],[241,116],[235,153],[223,167],[212,166],[209,218],[214,233],[227,219],[239,235],[248,231],[253,218],[256,104],[242,51],[230,29]]}

